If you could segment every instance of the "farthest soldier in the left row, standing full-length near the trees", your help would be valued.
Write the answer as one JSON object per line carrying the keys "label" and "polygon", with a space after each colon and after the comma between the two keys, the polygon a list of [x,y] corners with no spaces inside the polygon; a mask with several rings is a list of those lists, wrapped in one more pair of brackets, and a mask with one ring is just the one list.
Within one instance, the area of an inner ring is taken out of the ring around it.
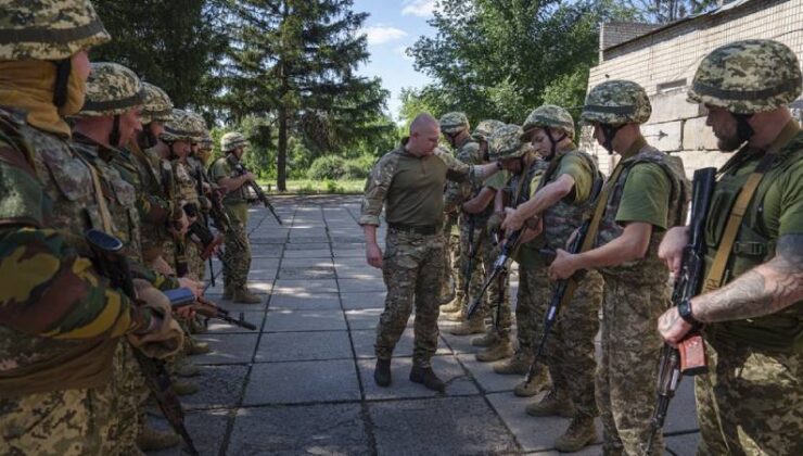
{"label": "farthest soldier in the left row, standing full-length near the trees", "polygon": [[237,131],[229,131],[220,138],[220,150],[225,154],[217,159],[209,168],[209,178],[214,183],[226,189],[224,205],[231,219],[231,229],[226,235],[224,265],[224,299],[235,303],[259,304],[259,296],[252,294],[247,288],[251,269],[251,246],[248,235],[248,203],[245,185],[255,181],[252,173],[240,175],[234,166],[240,163],[248,141]]}

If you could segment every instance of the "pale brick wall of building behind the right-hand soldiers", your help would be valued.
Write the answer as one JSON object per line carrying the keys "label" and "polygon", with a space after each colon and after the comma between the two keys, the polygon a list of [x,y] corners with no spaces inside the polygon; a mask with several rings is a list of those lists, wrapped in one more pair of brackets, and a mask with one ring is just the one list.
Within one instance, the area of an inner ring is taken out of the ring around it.
{"label": "pale brick wall of building behind the right-hand soldiers", "polygon": [[[652,103],[652,116],[642,128],[647,140],[680,156],[691,176],[701,166],[723,164],[728,154],[716,150],[700,107],[686,102],[688,84],[709,52],[750,38],[783,42],[801,59],[803,0],[752,0],[606,48],[600,64],[590,71],[588,86],[591,88],[609,78],[640,84]],[[795,104],[803,106],[803,101]],[[801,115],[801,110],[794,111]],[[588,128],[583,131],[582,144],[598,157],[603,172],[609,173],[613,165],[611,157],[590,138]]]}

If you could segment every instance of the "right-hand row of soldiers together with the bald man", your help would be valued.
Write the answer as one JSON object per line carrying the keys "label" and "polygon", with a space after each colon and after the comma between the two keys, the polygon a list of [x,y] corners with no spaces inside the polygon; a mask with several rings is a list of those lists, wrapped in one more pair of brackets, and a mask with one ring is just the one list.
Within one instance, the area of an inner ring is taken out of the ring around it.
{"label": "right-hand row of soldiers together with the bald man", "polygon": [[[705,286],[676,306],[671,278],[688,256],[691,187],[681,161],[641,134],[651,104],[638,84],[607,80],[583,106],[594,139],[619,157],[607,179],[576,147],[563,107],[539,106],[522,126],[483,121],[473,132],[459,112],[438,123],[418,116],[374,166],[362,203],[367,259],[387,286],[375,382],[392,383],[391,355],[415,303],[410,380],[445,390],[431,364],[439,301],[443,318],[460,322],[449,332],[482,334],[472,340],[484,347],[477,360],[526,373],[517,396],[547,390],[528,415],[572,419],[556,448],[592,443],[599,416],[604,454],[659,455],[660,354],[701,331],[709,373],[696,379],[699,453],[801,454],[803,132],[788,109],[801,85],[796,56],[772,40],[726,45],[701,62],[689,102],[705,107],[719,149],[738,151],[709,195]],[[438,132],[454,156],[437,149]],[[488,166],[505,173],[490,176]],[[383,205],[384,253],[375,242]],[[519,264],[515,341],[504,274],[510,251]]]}

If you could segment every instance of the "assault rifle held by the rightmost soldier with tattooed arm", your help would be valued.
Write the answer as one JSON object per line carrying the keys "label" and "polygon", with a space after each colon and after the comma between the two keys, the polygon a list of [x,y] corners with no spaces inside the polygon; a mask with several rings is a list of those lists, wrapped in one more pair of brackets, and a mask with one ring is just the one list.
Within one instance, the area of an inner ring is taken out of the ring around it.
{"label": "assault rifle held by the rightmost soldier with tattooed arm", "polygon": [[[716,183],[716,168],[701,168],[694,172],[691,190],[691,216],[689,220],[689,243],[684,248],[680,275],[672,289],[672,303],[678,305],[700,292],[705,268],[705,217],[711,205],[711,197]],[[658,372],[658,401],[650,426],[647,449],[658,431],[663,428],[670,401],[675,396],[677,385],[684,375],[697,376],[708,371],[705,344],[699,328],[690,331],[677,349],[664,344],[661,349]]]}

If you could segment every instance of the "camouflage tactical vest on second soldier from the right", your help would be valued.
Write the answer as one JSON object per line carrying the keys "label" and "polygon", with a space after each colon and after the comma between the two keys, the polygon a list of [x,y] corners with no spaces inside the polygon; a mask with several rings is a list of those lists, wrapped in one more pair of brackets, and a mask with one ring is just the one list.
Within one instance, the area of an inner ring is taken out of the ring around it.
{"label": "camouflage tactical vest on second soldier from the right", "polygon": [[[606,188],[613,186],[608,194],[606,212],[600,220],[599,232],[595,248],[604,245],[615,238],[622,236],[624,227],[616,223],[616,213],[619,212],[622,195],[624,193],[625,182],[633,167],[639,163],[653,163],[663,169],[672,186],[668,195],[670,205],[666,216],[667,229],[674,226],[683,225],[686,220],[688,202],[690,199],[690,183],[686,178],[683,162],[680,159],[670,156],[651,145],[645,145],[638,153],[628,159],[622,159],[617,166],[622,166],[622,172],[616,181],[608,181]],[[604,191],[604,189],[603,189]],[[658,246],[663,240],[664,232],[658,232],[653,228],[650,235],[650,244],[647,248],[647,254],[641,259],[636,259],[601,268],[600,270],[609,276],[614,276],[628,283],[663,283],[668,280],[668,268],[666,264],[658,257]]]}

